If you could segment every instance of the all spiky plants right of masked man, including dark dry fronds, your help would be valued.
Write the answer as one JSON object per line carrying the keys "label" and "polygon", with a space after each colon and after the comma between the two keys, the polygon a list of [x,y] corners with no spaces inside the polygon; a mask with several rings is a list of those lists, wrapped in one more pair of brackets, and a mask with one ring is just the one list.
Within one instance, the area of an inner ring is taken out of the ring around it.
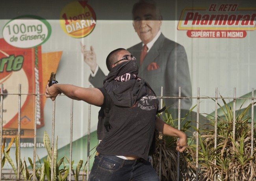
{"label": "all spiky plants right of masked man, including dark dry fronds", "polygon": [[[205,129],[196,130],[199,143],[198,180],[256,181],[256,124],[254,123],[252,130],[249,113],[252,104],[244,109],[241,109],[241,106],[236,113],[233,113],[233,104],[227,104],[224,99],[223,102],[223,107],[218,104],[221,111],[217,115],[216,148],[215,117],[213,115],[207,115],[209,123]],[[163,117],[166,118],[164,121],[167,124],[175,127],[175,120],[168,115],[168,112],[165,112]],[[233,136],[234,120],[235,136]],[[253,140],[251,138],[252,131],[254,133]],[[190,139],[186,152],[180,154],[180,180],[196,180],[197,147],[194,139]],[[158,174],[161,166],[161,181],[177,180],[178,154],[175,150],[175,143],[175,138],[163,137],[163,140],[159,140],[156,144],[153,166]]]}

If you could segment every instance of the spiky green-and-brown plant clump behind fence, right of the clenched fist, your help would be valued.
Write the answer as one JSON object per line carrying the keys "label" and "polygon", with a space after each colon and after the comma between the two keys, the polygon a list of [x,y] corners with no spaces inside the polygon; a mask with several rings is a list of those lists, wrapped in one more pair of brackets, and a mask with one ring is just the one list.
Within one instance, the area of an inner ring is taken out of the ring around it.
{"label": "spiky green-and-brown plant clump behind fence, right of the clenched fist", "polygon": [[[256,155],[256,136],[251,142],[251,118],[249,110],[252,104],[242,109],[241,104],[235,113],[235,139],[233,139],[233,108],[232,103],[224,106],[217,117],[217,146],[215,148],[215,117],[208,115],[212,127],[199,132],[198,173],[200,181],[255,181],[256,159],[251,156],[251,143],[253,155]],[[211,129],[213,128],[213,129]],[[254,126],[254,132],[256,128]],[[188,146],[190,157],[186,157],[190,168],[195,172],[196,147]],[[252,171],[252,174],[251,174]]]}

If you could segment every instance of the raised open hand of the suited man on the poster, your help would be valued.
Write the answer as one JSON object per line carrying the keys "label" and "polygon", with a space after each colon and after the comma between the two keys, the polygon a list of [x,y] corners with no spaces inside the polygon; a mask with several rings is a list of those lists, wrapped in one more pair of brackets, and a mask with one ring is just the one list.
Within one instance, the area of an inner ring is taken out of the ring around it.
{"label": "raised open hand of the suited man on the poster", "polygon": [[97,67],[96,54],[93,49],[93,46],[90,47],[90,50],[86,50],[86,46],[80,42],[81,52],[83,54],[83,61],[90,67],[91,71],[94,73]]}

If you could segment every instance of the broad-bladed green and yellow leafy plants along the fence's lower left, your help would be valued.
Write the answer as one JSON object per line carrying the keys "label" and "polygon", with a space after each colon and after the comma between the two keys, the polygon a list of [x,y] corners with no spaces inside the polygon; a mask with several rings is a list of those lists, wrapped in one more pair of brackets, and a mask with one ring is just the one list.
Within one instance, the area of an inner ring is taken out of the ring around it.
{"label": "broad-bladed green and yellow leafy plants along the fence's lower left", "polygon": [[[10,148],[11,145],[13,144],[15,140],[15,147],[16,147],[16,152],[15,152],[15,158],[16,158],[16,166],[13,162],[13,160],[11,159],[11,157],[9,156],[9,152],[10,152]],[[8,161],[8,163],[11,165],[13,172],[15,173],[15,177],[16,179],[18,178],[18,172],[17,172],[17,164],[18,164],[18,138],[16,136],[16,138],[12,138],[11,142],[8,146],[8,148],[6,150],[5,149],[5,143],[6,143],[6,139],[4,139],[3,142],[3,146],[2,146],[2,154],[4,154],[4,157],[2,158],[2,167],[4,166],[4,164],[6,163],[6,161]],[[45,179],[47,179],[48,181],[51,180],[51,166],[52,166],[52,151],[54,152],[54,158],[53,158],[53,176],[54,176],[54,181],[67,181],[68,179],[68,175],[69,175],[69,166],[71,166],[71,172],[74,176],[75,181],[78,181],[78,176],[79,176],[79,172],[82,168],[83,165],[83,161],[80,160],[76,166],[76,170],[74,170],[72,168],[74,161],[71,162],[69,159],[64,156],[61,159],[59,159],[59,161],[57,162],[57,158],[58,158],[58,137],[56,138],[56,144],[54,146],[54,149],[51,147],[50,144],[50,138],[47,134],[47,132],[44,133],[44,144],[45,144],[45,148],[47,150],[47,159],[43,158],[43,163],[41,163],[39,157],[37,156],[38,162],[40,164],[40,166],[36,166],[35,169],[35,177],[38,181],[44,181]],[[67,161],[67,163],[69,164],[69,166],[66,165],[65,160]],[[30,157],[28,157],[28,161],[30,163],[30,166],[33,168],[33,161]],[[22,175],[24,180],[30,180],[33,176],[33,173],[30,174],[30,171],[28,170],[25,158],[23,159],[23,161],[20,160],[20,172],[19,172],[20,176]]]}

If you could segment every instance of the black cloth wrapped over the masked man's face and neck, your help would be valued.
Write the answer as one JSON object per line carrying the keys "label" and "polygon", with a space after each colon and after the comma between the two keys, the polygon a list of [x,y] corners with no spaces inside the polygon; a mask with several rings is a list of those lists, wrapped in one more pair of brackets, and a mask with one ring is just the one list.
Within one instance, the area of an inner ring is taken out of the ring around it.
{"label": "black cloth wrapped over the masked man's face and neck", "polygon": [[138,78],[138,65],[134,60],[113,67],[104,80],[104,88],[114,104],[134,106],[137,99],[146,93],[144,79]]}

